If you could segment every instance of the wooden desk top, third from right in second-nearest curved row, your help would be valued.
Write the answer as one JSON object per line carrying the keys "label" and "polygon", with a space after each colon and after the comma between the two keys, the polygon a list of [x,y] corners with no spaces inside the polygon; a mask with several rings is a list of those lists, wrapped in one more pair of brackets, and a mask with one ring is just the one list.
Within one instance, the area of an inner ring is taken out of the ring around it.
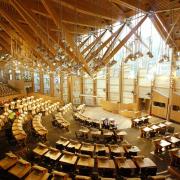
{"label": "wooden desk top, third from right in second-nearest curved row", "polygon": [[98,169],[115,169],[115,164],[112,159],[97,159]]}

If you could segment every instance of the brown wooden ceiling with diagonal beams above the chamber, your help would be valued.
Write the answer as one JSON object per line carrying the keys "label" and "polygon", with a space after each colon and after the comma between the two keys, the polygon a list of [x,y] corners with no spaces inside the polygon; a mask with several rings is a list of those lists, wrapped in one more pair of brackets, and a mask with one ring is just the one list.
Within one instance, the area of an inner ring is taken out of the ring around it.
{"label": "brown wooden ceiling with diagonal beams above the chamber", "polygon": [[[52,66],[44,54],[53,59],[58,46],[90,74],[90,59],[87,61],[74,41],[77,36],[108,28],[117,21],[123,23],[139,12],[155,12],[151,18],[161,35],[180,49],[178,8],[179,0],[1,0],[1,51],[12,52],[15,39],[23,47],[29,47],[36,58]],[[45,51],[40,52],[39,46]]]}

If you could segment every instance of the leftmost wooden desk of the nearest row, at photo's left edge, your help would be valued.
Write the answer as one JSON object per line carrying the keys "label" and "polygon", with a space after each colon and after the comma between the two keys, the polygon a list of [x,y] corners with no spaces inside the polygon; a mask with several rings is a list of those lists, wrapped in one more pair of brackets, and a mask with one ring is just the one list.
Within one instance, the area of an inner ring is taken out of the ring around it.
{"label": "leftmost wooden desk of the nearest row, at photo's left edge", "polygon": [[18,161],[18,157],[13,153],[6,153],[6,157],[0,160],[0,168],[7,170]]}

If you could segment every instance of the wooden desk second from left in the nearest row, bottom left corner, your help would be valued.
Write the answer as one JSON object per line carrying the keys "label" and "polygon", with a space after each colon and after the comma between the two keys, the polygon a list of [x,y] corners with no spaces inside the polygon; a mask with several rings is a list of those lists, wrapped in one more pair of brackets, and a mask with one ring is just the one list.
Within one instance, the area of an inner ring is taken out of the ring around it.
{"label": "wooden desk second from left in the nearest row, bottom left corner", "polygon": [[31,170],[31,164],[20,159],[8,172],[18,178],[23,178]]}

